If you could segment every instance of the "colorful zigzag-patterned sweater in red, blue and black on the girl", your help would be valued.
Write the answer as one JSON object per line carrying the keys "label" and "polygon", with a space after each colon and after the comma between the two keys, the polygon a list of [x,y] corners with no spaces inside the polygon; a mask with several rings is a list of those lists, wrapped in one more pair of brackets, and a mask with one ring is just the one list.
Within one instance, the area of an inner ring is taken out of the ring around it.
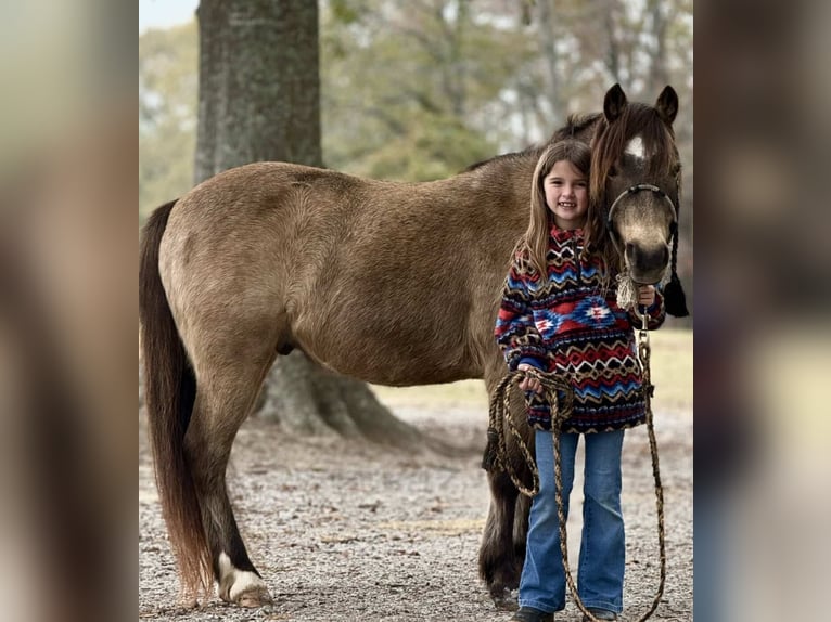
{"label": "colorful zigzag-patterned sweater in red, blue and black on the girl", "polygon": [[[572,385],[574,407],[562,431],[629,428],[645,420],[632,329],[641,323],[617,306],[614,280],[603,295],[600,260],[587,257],[583,246],[583,230],[553,226],[545,281],[527,254],[517,252],[506,278],[495,335],[511,371],[528,363]],[[659,291],[648,314],[651,329],[663,324]],[[530,392],[526,399],[528,423],[550,430],[547,402]]]}

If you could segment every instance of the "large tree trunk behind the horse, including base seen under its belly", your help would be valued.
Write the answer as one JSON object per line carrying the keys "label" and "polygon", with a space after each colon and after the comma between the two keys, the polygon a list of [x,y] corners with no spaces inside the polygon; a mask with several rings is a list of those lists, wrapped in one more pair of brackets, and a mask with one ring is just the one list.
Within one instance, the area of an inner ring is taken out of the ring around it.
{"label": "large tree trunk behind the horse, including base seen under its belly", "polygon": [[[308,0],[202,0],[196,182],[261,160],[322,166],[318,5]],[[366,384],[280,357],[258,413],[299,433],[407,445],[417,431]]]}

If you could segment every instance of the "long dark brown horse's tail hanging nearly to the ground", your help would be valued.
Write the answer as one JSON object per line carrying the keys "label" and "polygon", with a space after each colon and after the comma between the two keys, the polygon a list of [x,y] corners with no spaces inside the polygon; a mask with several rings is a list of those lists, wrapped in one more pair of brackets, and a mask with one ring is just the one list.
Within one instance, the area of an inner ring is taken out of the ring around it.
{"label": "long dark brown horse's tail hanging nearly to the ground", "polygon": [[210,553],[184,453],[196,377],[158,273],[158,247],[175,203],[156,209],[144,226],[139,259],[139,320],[156,487],[182,588],[187,596],[195,597],[213,588]]}

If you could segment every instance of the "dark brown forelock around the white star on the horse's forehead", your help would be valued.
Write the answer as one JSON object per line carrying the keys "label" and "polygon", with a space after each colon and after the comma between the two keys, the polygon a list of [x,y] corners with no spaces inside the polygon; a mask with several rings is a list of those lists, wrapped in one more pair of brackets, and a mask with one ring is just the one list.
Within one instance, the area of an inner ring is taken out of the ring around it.
{"label": "dark brown forelock around the white star on the horse's forehead", "polygon": [[602,205],[606,177],[621,159],[628,142],[637,135],[640,135],[649,154],[648,169],[643,171],[647,177],[656,178],[677,172],[678,150],[672,126],[664,121],[656,108],[630,102],[613,122],[601,116],[595,133],[589,177],[590,195],[598,205]]}

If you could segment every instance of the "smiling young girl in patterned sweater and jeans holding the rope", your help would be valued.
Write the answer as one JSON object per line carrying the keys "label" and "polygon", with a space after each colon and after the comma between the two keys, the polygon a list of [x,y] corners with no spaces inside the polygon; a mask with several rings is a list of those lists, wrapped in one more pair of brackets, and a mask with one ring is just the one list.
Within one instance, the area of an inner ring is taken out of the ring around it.
{"label": "smiling young girl in patterned sweater and jeans holding the rope", "polygon": [[[574,388],[571,416],[561,427],[563,503],[574,480],[577,441],[585,435],[583,539],[578,592],[600,620],[623,609],[625,563],[621,514],[621,450],[624,429],[645,420],[634,326],[635,312],[615,301],[617,254],[597,206],[589,205],[589,147],[554,143],[534,171],[530,222],[506,278],[496,338],[511,371],[536,367]],[[663,299],[640,286],[650,328],[664,321]],[[565,575],[554,500],[551,412],[537,380],[520,387],[535,428],[539,494],[534,497],[520,610],[513,620],[554,619],[565,607]]]}

